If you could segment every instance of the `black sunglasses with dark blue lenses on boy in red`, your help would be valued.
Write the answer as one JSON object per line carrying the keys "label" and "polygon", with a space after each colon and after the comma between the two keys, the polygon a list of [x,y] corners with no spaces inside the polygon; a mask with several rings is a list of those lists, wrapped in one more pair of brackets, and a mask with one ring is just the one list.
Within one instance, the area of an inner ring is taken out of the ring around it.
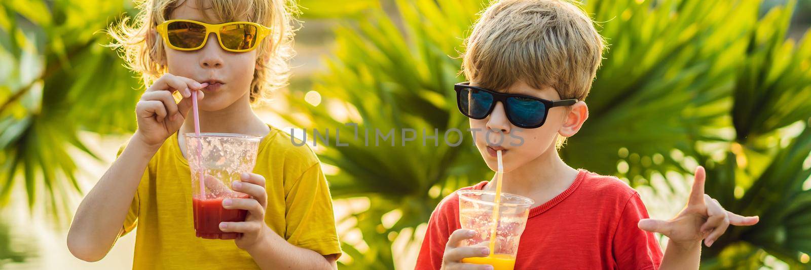
{"label": "black sunglasses with dark blue lenses on boy in red", "polygon": [[534,96],[504,94],[490,89],[470,86],[470,82],[454,84],[457,105],[461,114],[474,119],[484,119],[496,108],[496,101],[504,104],[504,113],[513,125],[521,128],[536,128],[547,121],[549,109],[569,106],[577,99],[547,101]]}

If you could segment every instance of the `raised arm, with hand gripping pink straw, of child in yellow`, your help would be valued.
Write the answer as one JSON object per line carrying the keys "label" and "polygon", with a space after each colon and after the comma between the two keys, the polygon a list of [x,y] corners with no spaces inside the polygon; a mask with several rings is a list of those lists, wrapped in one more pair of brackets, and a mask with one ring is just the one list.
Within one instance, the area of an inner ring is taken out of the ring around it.
{"label": "raised arm, with hand gripping pink straw, of child in yellow", "polygon": [[[135,105],[138,131],[79,204],[67,234],[67,248],[79,259],[97,261],[107,255],[122,233],[127,209],[149,160],[170,135],[180,129],[191,109],[191,91],[206,87],[169,73],[155,80]],[[183,96],[175,103],[172,92]],[[203,99],[203,92],[197,95]]]}

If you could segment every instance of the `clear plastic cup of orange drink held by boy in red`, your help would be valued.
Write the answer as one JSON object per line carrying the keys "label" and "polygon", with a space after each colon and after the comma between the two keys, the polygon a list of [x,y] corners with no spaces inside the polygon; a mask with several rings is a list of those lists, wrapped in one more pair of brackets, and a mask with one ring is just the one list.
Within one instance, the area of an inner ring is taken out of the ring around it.
{"label": "clear plastic cup of orange drink held by boy in red", "polygon": [[[493,207],[496,192],[457,191],[459,195],[459,223],[461,229],[472,229],[476,234],[465,239],[461,246],[489,246],[493,225]],[[524,196],[501,193],[496,244],[487,257],[462,259],[463,263],[491,264],[496,270],[512,270],[518,252],[518,242],[526,227],[534,201]]]}

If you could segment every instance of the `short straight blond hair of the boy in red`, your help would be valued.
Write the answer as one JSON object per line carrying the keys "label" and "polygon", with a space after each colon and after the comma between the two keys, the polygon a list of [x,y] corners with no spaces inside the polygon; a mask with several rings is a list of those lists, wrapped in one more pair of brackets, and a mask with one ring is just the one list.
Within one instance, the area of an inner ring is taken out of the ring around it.
{"label": "short straight blond hair of the boy in red", "polygon": [[483,88],[518,81],[586,99],[603,55],[603,37],[579,6],[563,0],[494,2],[465,41],[462,72]]}

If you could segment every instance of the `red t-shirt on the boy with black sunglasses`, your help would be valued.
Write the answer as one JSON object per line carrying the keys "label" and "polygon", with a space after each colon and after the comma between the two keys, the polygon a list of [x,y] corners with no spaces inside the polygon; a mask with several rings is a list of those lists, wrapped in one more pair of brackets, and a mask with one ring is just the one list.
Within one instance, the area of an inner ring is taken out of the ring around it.
{"label": "red t-shirt on the boy with black sunglasses", "polygon": [[[481,190],[487,181],[462,190]],[[516,269],[656,269],[662,250],[639,229],[648,217],[637,191],[620,179],[580,169],[569,189],[530,209]],[[419,251],[417,269],[439,269],[448,236],[460,229],[454,192],[436,207]]]}

